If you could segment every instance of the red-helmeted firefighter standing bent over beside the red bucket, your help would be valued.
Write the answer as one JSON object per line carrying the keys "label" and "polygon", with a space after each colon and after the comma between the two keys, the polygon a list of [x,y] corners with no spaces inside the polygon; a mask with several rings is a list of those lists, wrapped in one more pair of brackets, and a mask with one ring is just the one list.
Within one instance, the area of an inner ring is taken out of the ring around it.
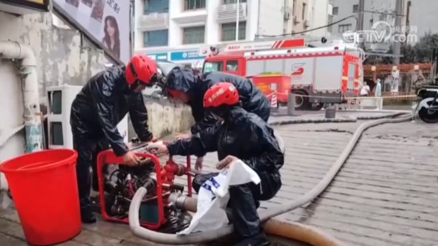
{"label": "red-helmeted firefighter standing bent over beside the red bucket", "polygon": [[123,142],[118,122],[129,112],[140,141],[153,139],[141,91],[155,79],[155,62],[146,55],[134,55],[127,66],[107,68],[94,75],[73,100],[70,124],[73,148],[78,152],[76,172],[83,223],[96,222],[90,202],[90,166],[92,186],[98,191],[97,154],[111,146],[117,156],[123,156],[125,164],[134,165],[139,161]]}

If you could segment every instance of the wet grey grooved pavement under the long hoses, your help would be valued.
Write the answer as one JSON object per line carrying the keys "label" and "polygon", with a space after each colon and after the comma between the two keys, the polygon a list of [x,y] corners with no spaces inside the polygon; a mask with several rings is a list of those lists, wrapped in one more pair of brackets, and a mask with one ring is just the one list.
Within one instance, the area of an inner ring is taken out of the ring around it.
{"label": "wet grey grooved pavement under the long hoses", "polygon": [[[283,187],[261,209],[309,191],[362,122],[275,126],[287,148]],[[436,245],[437,127],[417,120],[370,128],[329,189],[277,219],[315,226],[352,246]],[[207,154],[204,160],[204,170],[214,171],[216,154]],[[23,238],[15,211],[0,210],[0,245],[26,245]],[[62,245],[157,244],[133,236],[127,225],[99,221],[84,225],[79,236]]]}

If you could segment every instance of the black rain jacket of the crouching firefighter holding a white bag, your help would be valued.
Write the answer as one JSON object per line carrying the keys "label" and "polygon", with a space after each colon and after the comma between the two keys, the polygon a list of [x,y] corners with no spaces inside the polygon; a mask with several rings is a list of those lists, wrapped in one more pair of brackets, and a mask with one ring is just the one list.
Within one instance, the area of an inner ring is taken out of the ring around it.
{"label": "black rain jacket of the crouching firefighter holding a white bag", "polygon": [[218,152],[218,159],[236,156],[258,174],[279,174],[284,149],[274,130],[259,116],[233,107],[218,128],[207,128],[188,139],[168,143],[169,154],[203,156]]}

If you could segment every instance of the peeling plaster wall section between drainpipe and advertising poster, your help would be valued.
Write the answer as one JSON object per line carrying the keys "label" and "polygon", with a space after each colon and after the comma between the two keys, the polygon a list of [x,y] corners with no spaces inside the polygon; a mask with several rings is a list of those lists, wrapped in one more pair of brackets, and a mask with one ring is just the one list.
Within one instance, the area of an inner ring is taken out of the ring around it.
{"label": "peeling plaster wall section between drainpipe and advertising poster", "polygon": [[[20,19],[19,40],[34,47],[38,60],[38,81],[43,104],[47,87],[64,83],[83,85],[105,67],[107,60],[103,51],[86,41],[81,47],[79,32],[65,28],[62,21],[52,14],[28,14]],[[53,23],[59,23],[57,26],[62,27],[56,27]]]}

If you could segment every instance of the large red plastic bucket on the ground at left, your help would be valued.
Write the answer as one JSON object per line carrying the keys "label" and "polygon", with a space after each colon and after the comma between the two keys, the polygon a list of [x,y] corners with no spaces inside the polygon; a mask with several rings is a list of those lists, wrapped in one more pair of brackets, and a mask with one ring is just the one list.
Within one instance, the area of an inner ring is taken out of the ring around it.
{"label": "large red plastic bucket on the ground at left", "polygon": [[28,243],[53,245],[81,232],[75,150],[43,150],[3,162]]}

